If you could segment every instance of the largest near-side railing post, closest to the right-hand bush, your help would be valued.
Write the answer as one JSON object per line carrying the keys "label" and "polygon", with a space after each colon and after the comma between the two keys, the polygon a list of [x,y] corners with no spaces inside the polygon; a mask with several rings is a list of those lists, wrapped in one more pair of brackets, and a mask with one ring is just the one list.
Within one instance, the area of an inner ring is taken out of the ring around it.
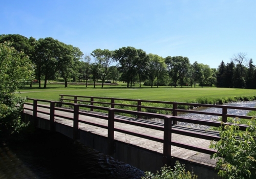
{"label": "largest near-side railing post, closest to the right-hand bush", "polygon": [[170,166],[171,164],[171,147],[172,147],[172,117],[164,117],[164,132],[163,132],[163,165]]}

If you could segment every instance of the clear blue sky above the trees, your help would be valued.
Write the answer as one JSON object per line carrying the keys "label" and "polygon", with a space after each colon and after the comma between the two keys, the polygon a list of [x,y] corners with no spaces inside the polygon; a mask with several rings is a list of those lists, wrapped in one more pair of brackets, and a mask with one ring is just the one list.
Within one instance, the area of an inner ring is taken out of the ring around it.
{"label": "clear blue sky above the trees", "polygon": [[132,46],[218,68],[233,54],[256,62],[255,0],[0,0],[0,34],[53,37],[95,49]]}

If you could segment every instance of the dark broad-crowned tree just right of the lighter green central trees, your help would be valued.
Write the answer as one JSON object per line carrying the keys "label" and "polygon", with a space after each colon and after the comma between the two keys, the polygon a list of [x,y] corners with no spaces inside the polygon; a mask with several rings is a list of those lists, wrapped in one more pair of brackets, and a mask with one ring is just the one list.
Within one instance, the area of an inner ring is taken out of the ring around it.
{"label": "dark broad-crowned tree just right of the lighter green central trees", "polygon": [[187,57],[182,57],[182,56],[175,56],[175,57],[167,56],[165,58],[165,63],[167,65],[169,76],[174,81],[174,87],[176,87],[177,81],[181,77],[185,76],[184,74],[187,72],[189,68],[189,64],[190,64],[189,60]]}

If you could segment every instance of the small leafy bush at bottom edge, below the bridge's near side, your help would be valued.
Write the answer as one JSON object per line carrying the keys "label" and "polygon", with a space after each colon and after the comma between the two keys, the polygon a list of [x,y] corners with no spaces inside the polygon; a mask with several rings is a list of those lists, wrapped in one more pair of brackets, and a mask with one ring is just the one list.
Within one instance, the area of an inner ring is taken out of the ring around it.
{"label": "small leafy bush at bottom edge, below the bridge's near side", "polygon": [[161,171],[157,171],[156,174],[149,171],[145,172],[145,176],[142,179],[189,179],[197,178],[196,175],[186,172],[185,165],[181,165],[179,161],[176,161],[174,169],[167,167],[166,165],[161,168]]}

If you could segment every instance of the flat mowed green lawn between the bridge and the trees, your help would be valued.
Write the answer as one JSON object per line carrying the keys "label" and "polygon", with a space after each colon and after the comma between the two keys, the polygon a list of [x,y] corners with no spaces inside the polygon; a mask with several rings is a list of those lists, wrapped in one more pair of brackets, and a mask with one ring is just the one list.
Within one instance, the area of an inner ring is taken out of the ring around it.
{"label": "flat mowed green lawn between the bridge and the trees", "polygon": [[48,84],[47,88],[38,88],[38,84],[33,84],[33,87],[24,87],[19,90],[19,96],[35,99],[46,99],[58,101],[60,94],[78,95],[78,96],[94,96],[94,97],[112,97],[112,98],[128,98],[128,99],[144,99],[144,100],[159,100],[159,101],[177,101],[189,102],[195,101],[200,97],[223,98],[223,97],[238,97],[256,95],[255,89],[238,89],[238,88],[217,88],[217,87],[133,87],[126,88],[125,84],[111,86],[97,85],[93,88],[92,85],[63,85]]}

